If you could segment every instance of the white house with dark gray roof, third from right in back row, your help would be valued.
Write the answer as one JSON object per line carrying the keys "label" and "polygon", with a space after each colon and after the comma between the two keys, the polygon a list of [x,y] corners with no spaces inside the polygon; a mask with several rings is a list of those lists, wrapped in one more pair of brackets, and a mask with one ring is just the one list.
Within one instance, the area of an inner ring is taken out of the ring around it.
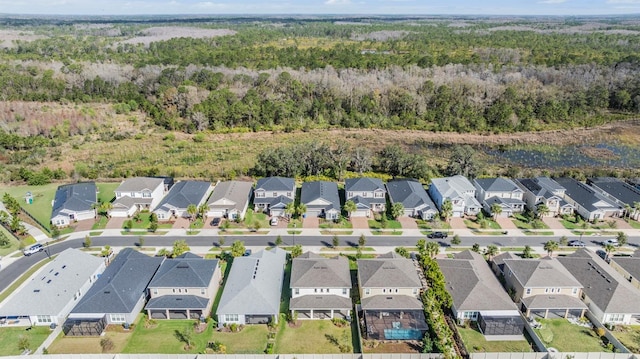
{"label": "white house with dark gray roof, third from right in back row", "polygon": [[546,217],[572,214],[575,208],[564,200],[565,188],[549,177],[520,178],[516,184],[524,191],[524,201],[532,213],[544,204],[549,210]]}

